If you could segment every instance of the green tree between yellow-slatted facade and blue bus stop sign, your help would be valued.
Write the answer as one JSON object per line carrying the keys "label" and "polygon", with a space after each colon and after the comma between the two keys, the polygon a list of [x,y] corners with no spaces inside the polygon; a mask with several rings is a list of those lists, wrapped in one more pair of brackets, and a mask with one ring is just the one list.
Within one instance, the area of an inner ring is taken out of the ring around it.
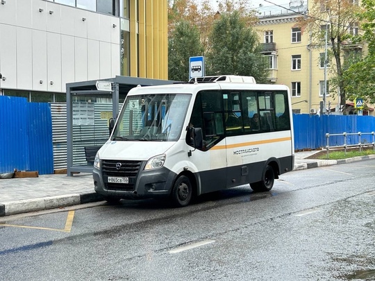
{"label": "green tree between yellow-slatted facade and blue bus stop sign", "polygon": [[188,22],[179,22],[168,40],[168,78],[187,81],[189,79],[189,58],[201,56],[203,47],[199,31]]}

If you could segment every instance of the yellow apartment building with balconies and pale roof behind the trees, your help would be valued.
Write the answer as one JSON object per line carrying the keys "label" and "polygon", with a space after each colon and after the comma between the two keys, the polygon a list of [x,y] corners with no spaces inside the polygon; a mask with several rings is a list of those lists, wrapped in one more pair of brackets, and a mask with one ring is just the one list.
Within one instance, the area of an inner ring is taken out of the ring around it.
{"label": "yellow apartment building with balconies and pale roof behind the trees", "polygon": [[[290,87],[295,113],[319,114],[325,103],[326,112],[339,114],[339,94],[329,91],[332,90],[330,66],[324,63],[329,45],[324,40],[319,46],[313,45],[308,30],[301,30],[297,24],[301,15],[308,15],[308,1],[260,7],[258,12],[256,29],[263,44],[263,54],[269,60],[269,83]],[[348,108],[351,109],[349,104]],[[373,114],[373,111],[365,114]]]}

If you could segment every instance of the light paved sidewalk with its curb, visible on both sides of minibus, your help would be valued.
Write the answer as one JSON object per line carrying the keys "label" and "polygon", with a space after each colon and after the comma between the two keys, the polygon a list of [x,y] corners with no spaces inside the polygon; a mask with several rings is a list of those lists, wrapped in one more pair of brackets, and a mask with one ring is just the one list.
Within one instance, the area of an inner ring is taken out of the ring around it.
{"label": "light paved sidewalk with its curb, visible on both sides of minibus", "polygon": [[[345,160],[306,159],[318,151],[302,151],[294,155],[294,170],[324,167],[375,158],[375,155]],[[0,179],[0,216],[47,210],[69,205],[101,201],[94,191],[92,175],[41,175],[38,178]]]}

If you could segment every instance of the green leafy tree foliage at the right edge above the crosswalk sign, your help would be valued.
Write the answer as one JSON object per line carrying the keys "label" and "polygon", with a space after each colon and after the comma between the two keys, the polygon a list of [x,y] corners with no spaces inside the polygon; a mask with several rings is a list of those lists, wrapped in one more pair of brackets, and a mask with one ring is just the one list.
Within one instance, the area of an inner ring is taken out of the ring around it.
{"label": "green leafy tree foliage at the right edge above the crosswalk sign", "polygon": [[347,81],[345,90],[351,100],[360,97],[369,103],[375,103],[375,1],[363,0],[362,5],[362,34],[357,41],[367,42],[368,52],[367,56],[344,71],[344,80]]}

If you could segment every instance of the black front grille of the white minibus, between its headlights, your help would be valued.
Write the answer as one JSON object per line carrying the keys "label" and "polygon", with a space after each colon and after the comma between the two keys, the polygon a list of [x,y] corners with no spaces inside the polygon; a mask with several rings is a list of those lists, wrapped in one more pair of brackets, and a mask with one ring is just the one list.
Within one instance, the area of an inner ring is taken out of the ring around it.
{"label": "black front grille of the white minibus, between its headlights", "polygon": [[101,165],[103,176],[136,178],[142,161],[102,160]]}

